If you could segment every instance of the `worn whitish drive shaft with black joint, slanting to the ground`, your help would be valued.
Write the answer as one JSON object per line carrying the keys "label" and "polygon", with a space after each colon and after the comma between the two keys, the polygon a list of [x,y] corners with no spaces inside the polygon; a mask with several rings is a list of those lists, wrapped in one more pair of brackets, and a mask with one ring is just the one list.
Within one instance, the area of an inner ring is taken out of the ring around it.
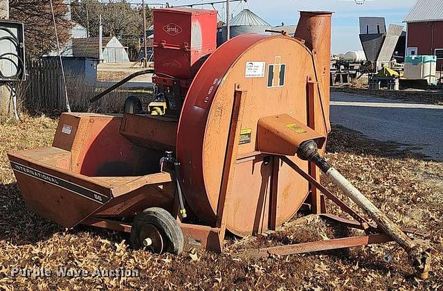
{"label": "worn whitish drive shaft with black joint, slanting to the ground", "polygon": [[363,195],[357,188],[352,186],[352,184],[343,175],[338,173],[331,164],[329,164],[323,157],[318,154],[317,144],[310,140],[305,141],[300,144],[297,150],[297,156],[305,161],[311,161],[320,170],[323,171],[332,181],[341,188],[341,190],[350,197],[358,206],[370,215],[370,217],[377,222],[379,227],[383,229],[395,242],[397,242],[400,247],[402,247],[408,256],[412,260],[412,265],[417,271],[419,278],[427,279],[428,272],[431,270],[431,249],[424,249],[420,245],[411,240],[406,233],[401,231],[401,229],[392,222],[380,209],[377,208],[370,200],[368,200],[365,195]]}

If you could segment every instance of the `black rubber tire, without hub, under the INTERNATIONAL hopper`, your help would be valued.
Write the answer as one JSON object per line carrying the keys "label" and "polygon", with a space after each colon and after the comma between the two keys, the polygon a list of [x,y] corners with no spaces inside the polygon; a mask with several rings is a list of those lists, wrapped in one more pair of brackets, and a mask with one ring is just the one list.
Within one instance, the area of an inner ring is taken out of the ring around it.
{"label": "black rubber tire, without hub, under the INTERNATIONAL hopper", "polygon": [[161,233],[165,247],[163,250],[172,254],[181,254],[184,247],[183,232],[179,222],[172,215],[160,207],[151,207],[138,213],[132,222],[131,243],[133,249],[143,249],[143,241],[138,235],[145,224],[152,224]]}

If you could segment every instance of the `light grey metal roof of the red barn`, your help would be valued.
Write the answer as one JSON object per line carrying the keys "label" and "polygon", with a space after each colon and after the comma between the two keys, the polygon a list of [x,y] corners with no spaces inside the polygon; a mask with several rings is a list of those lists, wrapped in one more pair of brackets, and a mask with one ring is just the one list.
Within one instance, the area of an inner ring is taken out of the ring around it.
{"label": "light grey metal roof of the red barn", "polygon": [[443,21],[442,0],[418,0],[408,12],[404,22]]}

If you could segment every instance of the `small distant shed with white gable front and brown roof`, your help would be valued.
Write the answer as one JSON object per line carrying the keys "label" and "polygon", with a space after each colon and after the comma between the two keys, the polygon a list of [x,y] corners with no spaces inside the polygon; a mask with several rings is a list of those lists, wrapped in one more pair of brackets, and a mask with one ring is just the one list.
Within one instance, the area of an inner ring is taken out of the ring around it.
{"label": "small distant shed with white gable front and brown roof", "polygon": [[[103,62],[129,62],[127,47],[118,41],[117,37],[103,37]],[[73,39],[73,56],[100,58],[100,42],[98,37]]]}

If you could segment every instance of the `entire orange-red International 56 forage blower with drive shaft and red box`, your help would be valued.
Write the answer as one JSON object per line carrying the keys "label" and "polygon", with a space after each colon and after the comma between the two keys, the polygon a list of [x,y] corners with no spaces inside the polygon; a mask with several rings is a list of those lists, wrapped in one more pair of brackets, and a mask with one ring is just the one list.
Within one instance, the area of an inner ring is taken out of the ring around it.
{"label": "entire orange-red International 56 forage blower with drive shaft and red box", "polygon": [[[174,105],[164,116],[62,114],[51,147],[8,154],[31,210],[64,227],[127,231],[134,248],[179,254],[221,252],[226,231],[277,229],[304,206],[366,235],[257,254],[395,240],[427,276],[429,249],[322,157],[330,130],[332,13],[301,12],[295,38],[240,35],[215,51],[215,12],[154,13],[156,94]],[[320,170],[377,224],[327,191]],[[354,220],[327,214],[326,198]]]}

